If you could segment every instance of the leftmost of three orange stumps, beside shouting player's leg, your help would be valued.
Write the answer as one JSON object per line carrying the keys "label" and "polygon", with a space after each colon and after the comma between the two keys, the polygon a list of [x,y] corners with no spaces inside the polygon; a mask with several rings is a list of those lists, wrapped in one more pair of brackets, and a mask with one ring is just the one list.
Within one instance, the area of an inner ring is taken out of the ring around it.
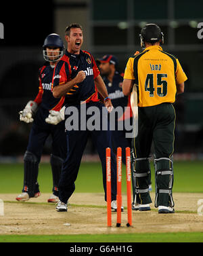
{"label": "leftmost of three orange stumps, beside shouting player's leg", "polygon": [[112,226],[112,187],[111,187],[111,149],[106,148],[106,200],[107,200],[107,225]]}

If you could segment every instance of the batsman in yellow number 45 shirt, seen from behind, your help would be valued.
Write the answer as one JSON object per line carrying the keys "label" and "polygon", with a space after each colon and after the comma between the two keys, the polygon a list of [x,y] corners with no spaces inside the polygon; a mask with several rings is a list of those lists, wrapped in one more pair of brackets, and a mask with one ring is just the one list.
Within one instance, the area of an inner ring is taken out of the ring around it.
{"label": "batsman in yellow number 45 shirt, seen from behind", "polygon": [[[138,134],[134,139],[135,181],[134,210],[149,211],[152,202],[148,187],[150,151],[154,143],[154,167],[158,213],[174,213],[173,151],[175,97],[183,93],[187,80],[179,60],[160,45],[164,35],[156,24],[141,29],[143,52],[129,58],[122,91],[127,96],[133,86],[138,93]],[[134,196],[134,195],[133,195]]]}

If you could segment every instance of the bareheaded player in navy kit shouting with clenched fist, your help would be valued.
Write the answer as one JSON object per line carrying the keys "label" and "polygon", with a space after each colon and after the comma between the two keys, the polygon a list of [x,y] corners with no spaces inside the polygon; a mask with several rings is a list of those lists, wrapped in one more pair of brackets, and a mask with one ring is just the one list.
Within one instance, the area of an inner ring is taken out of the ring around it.
{"label": "bareheaded player in navy kit shouting with clenched fist", "polygon": [[[66,96],[68,98],[65,111],[68,153],[60,177],[60,202],[58,202],[56,207],[57,211],[67,211],[67,202],[75,189],[74,181],[76,181],[78,175],[78,169],[89,134],[93,136],[93,141],[101,160],[106,200],[106,147],[112,148],[109,126],[107,130],[102,130],[101,126],[98,130],[91,130],[90,127],[81,128],[84,123],[86,125],[91,120],[91,117],[93,117],[93,114],[87,114],[91,107],[99,110],[99,114],[105,109],[104,115],[99,115],[98,118],[101,123],[104,120],[108,120],[108,111],[112,111],[112,103],[108,97],[104,81],[99,75],[99,69],[97,69],[93,56],[89,52],[81,50],[81,45],[83,44],[83,29],[81,25],[71,24],[68,26],[65,38],[68,43],[68,49],[60,62],[58,62],[58,65],[56,65],[53,74],[53,96],[57,98]],[[99,102],[98,92],[104,98],[106,108]],[[78,129],[68,130],[69,110],[73,106],[79,117]],[[85,115],[81,115],[81,107],[83,106],[87,109]],[[112,210],[116,211],[116,159],[113,154],[111,167]],[[91,181],[87,181],[87,184],[91,184]]]}

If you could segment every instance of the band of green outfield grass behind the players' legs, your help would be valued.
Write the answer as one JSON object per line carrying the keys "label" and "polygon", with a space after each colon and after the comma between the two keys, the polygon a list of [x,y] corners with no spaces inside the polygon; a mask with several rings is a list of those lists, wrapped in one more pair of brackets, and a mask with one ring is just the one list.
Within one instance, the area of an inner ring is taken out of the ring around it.
{"label": "band of green outfield grass behind the players' legs", "polygon": [[[203,161],[178,161],[174,164],[174,192],[203,193]],[[152,187],[154,187],[154,167],[152,168]],[[122,166],[122,189],[125,191],[125,166]],[[23,164],[0,164],[0,193],[19,193],[23,183]],[[43,193],[49,193],[52,188],[51,166],[40,164],[39,185]],[[75,192],[103,192],[100,163],[81,164],[76,180]]]}

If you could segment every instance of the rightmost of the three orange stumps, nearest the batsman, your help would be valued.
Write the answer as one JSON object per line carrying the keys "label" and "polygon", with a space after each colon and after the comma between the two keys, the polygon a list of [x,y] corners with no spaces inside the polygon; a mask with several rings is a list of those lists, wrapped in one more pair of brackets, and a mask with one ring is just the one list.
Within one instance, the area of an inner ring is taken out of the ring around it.
{"label": "rightmost of the three orange stumps, nearest the batsman", "polygon": [[126,178],[127,178],[127,209],[128,223],[127,227],[132,225],[132,208],[131,208],[131,149],[126,147]]}

